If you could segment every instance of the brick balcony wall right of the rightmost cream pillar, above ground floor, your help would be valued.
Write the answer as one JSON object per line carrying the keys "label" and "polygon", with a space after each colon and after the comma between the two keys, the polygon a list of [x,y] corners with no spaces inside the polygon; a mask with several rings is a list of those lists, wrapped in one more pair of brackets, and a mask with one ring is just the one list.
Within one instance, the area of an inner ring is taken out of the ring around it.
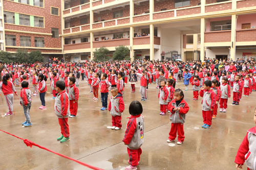
{"label": "brick balcony wall right of the rightmost cream pillar, above ground floor", "polygon": [[256,41],[256,29],[244,29],[237,31],[237,41]]}

